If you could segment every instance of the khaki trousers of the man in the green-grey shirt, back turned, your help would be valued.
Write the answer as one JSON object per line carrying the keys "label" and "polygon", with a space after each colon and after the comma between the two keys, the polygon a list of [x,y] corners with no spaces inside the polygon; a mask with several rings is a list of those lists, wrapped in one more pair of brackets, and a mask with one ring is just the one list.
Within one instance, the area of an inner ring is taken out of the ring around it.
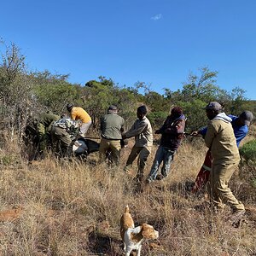
{"label": "khaki trousers of the man in the green-grey shirt, back turned", "polygon": [[106,160],[107,155],[110,154],[110,158],[113,160],[113,163],[115,165],[119,165],[120,151],[120,140],[108,140],[102,137],[99,148],[100,162],[102,163],[104,160]]}

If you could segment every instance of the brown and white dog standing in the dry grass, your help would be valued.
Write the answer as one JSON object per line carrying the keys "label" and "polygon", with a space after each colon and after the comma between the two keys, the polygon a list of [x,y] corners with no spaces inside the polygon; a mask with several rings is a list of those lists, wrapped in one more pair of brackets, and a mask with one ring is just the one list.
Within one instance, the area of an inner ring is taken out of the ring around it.
{"label": "brown and white dog standing in the dry grass", "polygon": [[140,256],[143,240],[159,236],[158,231],[149,224],[141,224],[135,228],[128,206],[120,219],[120,235],[125,243],[125,256],[129,256],[132,250],[137,250],[137,256]]}

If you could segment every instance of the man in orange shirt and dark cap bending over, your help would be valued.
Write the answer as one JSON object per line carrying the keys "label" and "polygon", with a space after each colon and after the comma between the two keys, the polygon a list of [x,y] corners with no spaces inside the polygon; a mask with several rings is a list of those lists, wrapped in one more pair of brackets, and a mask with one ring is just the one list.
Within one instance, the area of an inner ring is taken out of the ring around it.
{"label": "man in orange shirt and dark cap bending over", "polygon": [[70,113],[71,119],[81,120],[82,125],[79,134],[82,137],[85,137],[85,134],[91,125],[90,115],[83,108],[73,107],[73,104],[71,103],[67,104],[67,111]]}

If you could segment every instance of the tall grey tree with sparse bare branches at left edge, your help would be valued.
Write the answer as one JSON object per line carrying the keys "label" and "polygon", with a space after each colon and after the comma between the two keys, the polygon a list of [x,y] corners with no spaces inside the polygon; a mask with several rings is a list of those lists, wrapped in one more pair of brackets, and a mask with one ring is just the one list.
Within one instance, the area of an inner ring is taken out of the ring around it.
{"label": "tall grey tree with sparse bare branches at left edge", "polygon": [[2,125],[9,134],[15,129],[22,131],[26,124],[29,106],[32,102],[32,83],[26,75],[25,56],[15,44],[3,47],[2,62],[0,63],[0,101],[2,105]]}

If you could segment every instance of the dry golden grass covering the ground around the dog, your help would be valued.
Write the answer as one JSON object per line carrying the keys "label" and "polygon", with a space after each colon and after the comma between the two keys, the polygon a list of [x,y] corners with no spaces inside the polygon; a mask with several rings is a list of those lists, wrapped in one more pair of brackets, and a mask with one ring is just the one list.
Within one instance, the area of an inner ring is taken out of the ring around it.
{"label": "dry golden grass covering the ground around the dog", "polygon": [[49,156],[28,165],[17,143],[5,145],[0,212],[22,208],[19,218],[0,222],[0,254],[123,255],[119,218],[128,204],[135,224],[147,222],[160,232],[158,241],[145,241],[143,255],[256,255],[256,195],[246,179],[235,175],[231,183],[248,209],[247,223],[234,228],[225,220],[229,208],[213,214],[203,195],[186,190],[204,160],[207,148],[200,139],[184,142],[166,180],[150,183],[142,193],[133,180],[136,163],[131,176],[122,171],[131,145],[123,149],[119,168],[96,166],[97,154],[86,163]]}

